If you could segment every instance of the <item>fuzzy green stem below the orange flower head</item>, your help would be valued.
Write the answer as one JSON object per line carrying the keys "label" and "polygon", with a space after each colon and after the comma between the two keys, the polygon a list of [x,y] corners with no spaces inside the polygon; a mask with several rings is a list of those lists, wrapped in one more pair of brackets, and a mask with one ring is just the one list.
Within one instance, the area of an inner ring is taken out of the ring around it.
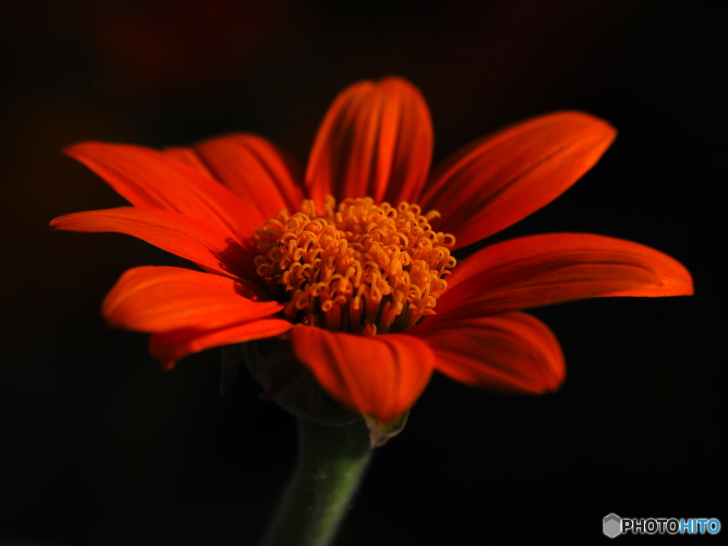
{"label": "fuzzy green stem below the orange flower head", "polygon": [[298,465],[261,546],[331,543],[371,458],[363,422],[327,427],[298,418]]}

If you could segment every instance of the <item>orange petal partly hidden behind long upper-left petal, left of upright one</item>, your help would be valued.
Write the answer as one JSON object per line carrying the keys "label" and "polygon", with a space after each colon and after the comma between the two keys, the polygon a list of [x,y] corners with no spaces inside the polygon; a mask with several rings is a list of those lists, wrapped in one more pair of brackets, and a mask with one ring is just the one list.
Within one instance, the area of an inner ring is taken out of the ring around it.
{"label": "orange petal partly hidden behind long upper-left petal, left of upright one", "polygon": [[264,138],[226,135],[198,143],[194,151],[215,178],[255,207],[258,227],[283,209],[293,214],[301,207],[301,167]]}

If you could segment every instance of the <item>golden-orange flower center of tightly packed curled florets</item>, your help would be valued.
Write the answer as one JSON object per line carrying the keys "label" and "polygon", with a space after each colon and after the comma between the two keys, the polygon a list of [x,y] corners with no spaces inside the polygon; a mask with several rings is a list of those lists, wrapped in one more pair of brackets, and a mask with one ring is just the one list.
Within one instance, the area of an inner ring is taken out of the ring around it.
{"label": "golden-orange flower center of tightly packed curled florets", "polygon": [[430,227],[440,213],[421,212],[328,196],[319,214],[306,199],[301,212],[282,210],[256,230],[256,271],[293,323],[364,336],[401,331],[435,314],[455,266],[455,237]]}

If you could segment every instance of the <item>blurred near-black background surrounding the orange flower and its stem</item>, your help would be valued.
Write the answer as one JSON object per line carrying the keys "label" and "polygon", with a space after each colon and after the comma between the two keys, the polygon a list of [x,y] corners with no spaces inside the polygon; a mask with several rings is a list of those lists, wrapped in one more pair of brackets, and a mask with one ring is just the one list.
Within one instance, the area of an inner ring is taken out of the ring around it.
{"label": "blurred near-black background surrounding the orange flower and its stem", "polygon": [[685,264],[696,295],[535,310],[566,354],[555,395],[436,376],[403,434],[376,451],[337,544],[588,543],[610,512],[728,524],[723,28],[688,6],[4,5],[0,543],[254,544],[296,456],[293,418],[258,400],[247,374],[218,395],[218,349],[162,373],[146,336],[106,330],[99,306],[119,275],[175,258],[119,234],[47,232],[55,216],[124,205],[60,150],[238,130],[305,164],[336,93],[387,74],[427,98],[435,162],[547,111],[608,119],[620,135],[601,162],[492,240],[638,241]]}

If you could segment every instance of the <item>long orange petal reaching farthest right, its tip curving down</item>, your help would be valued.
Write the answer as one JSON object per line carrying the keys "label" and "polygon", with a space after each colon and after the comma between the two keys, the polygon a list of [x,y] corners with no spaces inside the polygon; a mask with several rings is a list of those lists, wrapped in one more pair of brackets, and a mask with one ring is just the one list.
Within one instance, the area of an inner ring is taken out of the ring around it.
{"label": "long orange petal reaching farthest right, its tip curving down", "polygon": [[479,250],[458,264],[438,298],[444,312],[478,301],[495,314],[597,296],[687,296],[685,267],[653,248],[602,235],[553,233]]}

